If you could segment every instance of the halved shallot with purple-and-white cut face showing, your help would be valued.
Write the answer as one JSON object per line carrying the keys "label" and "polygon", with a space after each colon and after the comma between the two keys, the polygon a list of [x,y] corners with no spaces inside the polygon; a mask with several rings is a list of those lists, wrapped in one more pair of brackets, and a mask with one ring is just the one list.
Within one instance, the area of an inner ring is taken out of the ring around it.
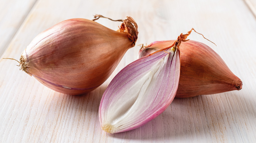
{"label": "halved shallot with purple-and-white cut face showing", "polygon": [[176,49],[140,58],[114,77],[99,106],[104,131],[118,133],[138,128],[170,105],[180,76],[180,52]]}

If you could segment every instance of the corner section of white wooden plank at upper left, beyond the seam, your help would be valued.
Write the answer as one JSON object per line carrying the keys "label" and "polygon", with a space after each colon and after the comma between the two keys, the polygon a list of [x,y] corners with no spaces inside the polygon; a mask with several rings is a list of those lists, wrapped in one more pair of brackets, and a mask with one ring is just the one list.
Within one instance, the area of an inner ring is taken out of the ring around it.
{"label": "corner section of white wooden plank at upper left, beyond the seam", "polygon": [[0,56],[30,12],[36,0],[0,1]]}

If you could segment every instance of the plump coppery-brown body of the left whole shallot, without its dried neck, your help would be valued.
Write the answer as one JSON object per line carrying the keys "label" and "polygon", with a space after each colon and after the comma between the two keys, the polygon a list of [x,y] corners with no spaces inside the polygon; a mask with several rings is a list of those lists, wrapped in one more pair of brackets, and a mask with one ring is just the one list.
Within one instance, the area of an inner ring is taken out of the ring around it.
{"label": "plump coppery-brown body of the left whole shallot, without its dried neck", "polygon": [[55,91],[70,95],[90,92],[107,80],[135,45],[135,26],[130,29],[134,33],[127,33],[87,19],[60,22],[32,40],[20,58],[21,69]]}

